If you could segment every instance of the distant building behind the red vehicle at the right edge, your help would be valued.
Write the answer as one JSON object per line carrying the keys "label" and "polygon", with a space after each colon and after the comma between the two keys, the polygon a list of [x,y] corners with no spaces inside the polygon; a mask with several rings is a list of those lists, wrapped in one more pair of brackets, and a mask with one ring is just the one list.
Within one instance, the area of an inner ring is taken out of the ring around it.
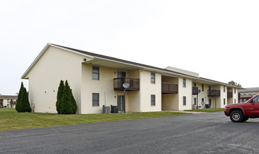
{"label": "distant building behind the red vehicle at the right edge", "polygon": [[248,87],[245,90],[238,90],[239,92],[239,103],[244,103],[251,97],[259,94],[259,87]]}

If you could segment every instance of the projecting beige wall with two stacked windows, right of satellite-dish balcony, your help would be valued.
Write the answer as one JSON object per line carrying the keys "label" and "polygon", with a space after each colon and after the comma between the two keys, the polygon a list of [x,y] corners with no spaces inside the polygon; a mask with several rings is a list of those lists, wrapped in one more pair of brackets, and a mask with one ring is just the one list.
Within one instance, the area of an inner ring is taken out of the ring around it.
{"label": "projecting beige wall with two stacked windows, right of satellite-dish balcony", "polygon": [[[161,74],[155,73],[155,84],[151,83],[151,71],[140,70],[140,111],[161,111]],[[155,106],[151,106],[151,94],[155,94]]]}

